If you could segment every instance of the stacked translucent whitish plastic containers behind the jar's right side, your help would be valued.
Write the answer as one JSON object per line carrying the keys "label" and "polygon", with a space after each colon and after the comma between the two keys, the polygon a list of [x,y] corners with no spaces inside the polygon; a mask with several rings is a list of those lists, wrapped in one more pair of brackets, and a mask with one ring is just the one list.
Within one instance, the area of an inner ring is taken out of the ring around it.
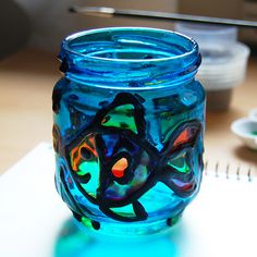
{"label": "stacked translucent whitish plastic containers behind the jar's right side", "polygon": [[223,90],[242,84],[249,48],[236,40],[237,27],[179,22],[175,30],[198,42],[203,61],[196,77],[207,90]]}

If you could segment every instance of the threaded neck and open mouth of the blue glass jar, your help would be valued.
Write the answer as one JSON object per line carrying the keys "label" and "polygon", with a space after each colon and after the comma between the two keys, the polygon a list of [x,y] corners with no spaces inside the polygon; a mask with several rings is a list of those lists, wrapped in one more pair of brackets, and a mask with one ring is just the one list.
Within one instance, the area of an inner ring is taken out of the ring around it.
{"label": "threaded neck and open mouth of the blue glass jar", "polygon": [[115,89],[154,89],[192,81],[200,64],[196,41],[149,27],[76,33],[62,41],[59,57],[65,77]]}

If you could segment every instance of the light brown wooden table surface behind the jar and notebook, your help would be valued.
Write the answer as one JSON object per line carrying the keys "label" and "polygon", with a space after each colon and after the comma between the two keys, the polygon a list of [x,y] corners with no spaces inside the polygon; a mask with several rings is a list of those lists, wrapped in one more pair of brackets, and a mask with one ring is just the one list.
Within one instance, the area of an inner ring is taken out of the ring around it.
{"label": "light brown wooden table surface behind the jar and notebook", "polygon": [[[25,49],[0,61],[0,173],[39,142],[51,142],[51,91],[61,77],[53,54]],[[208,169],[257,174],[257,151],[245,148],[230,124],[257,107],[257,59],[250,58],[246,78],[234,89],[231,108],[207,112],[205,160]],[[211,168],[210,168],[211,167]]]}

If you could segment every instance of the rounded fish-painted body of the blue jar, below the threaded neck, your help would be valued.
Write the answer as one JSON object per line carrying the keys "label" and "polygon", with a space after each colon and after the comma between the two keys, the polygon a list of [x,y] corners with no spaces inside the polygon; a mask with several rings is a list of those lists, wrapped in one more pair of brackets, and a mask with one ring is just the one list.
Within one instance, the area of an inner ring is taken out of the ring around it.
{"label": "rounded fish-painted body of the blue jar, below the threaded neck", "polygon": [[199,189],[204,89],[192,74],[157,88],[87,76],[65,73],[53,89],[57,189],[99,233],[163,232]]}

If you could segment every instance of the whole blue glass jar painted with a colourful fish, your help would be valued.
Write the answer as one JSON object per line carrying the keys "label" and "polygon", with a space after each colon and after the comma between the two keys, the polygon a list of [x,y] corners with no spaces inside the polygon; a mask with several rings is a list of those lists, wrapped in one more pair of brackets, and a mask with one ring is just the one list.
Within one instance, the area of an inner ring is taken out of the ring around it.
{"label": "whole blue glass jar painted with a colourful fish", "polygon": [[205,93],[197,44],[138,27],[62,42],[56,84],[56,186],[75,219],[102,234],[172,227],[203,172]]}

